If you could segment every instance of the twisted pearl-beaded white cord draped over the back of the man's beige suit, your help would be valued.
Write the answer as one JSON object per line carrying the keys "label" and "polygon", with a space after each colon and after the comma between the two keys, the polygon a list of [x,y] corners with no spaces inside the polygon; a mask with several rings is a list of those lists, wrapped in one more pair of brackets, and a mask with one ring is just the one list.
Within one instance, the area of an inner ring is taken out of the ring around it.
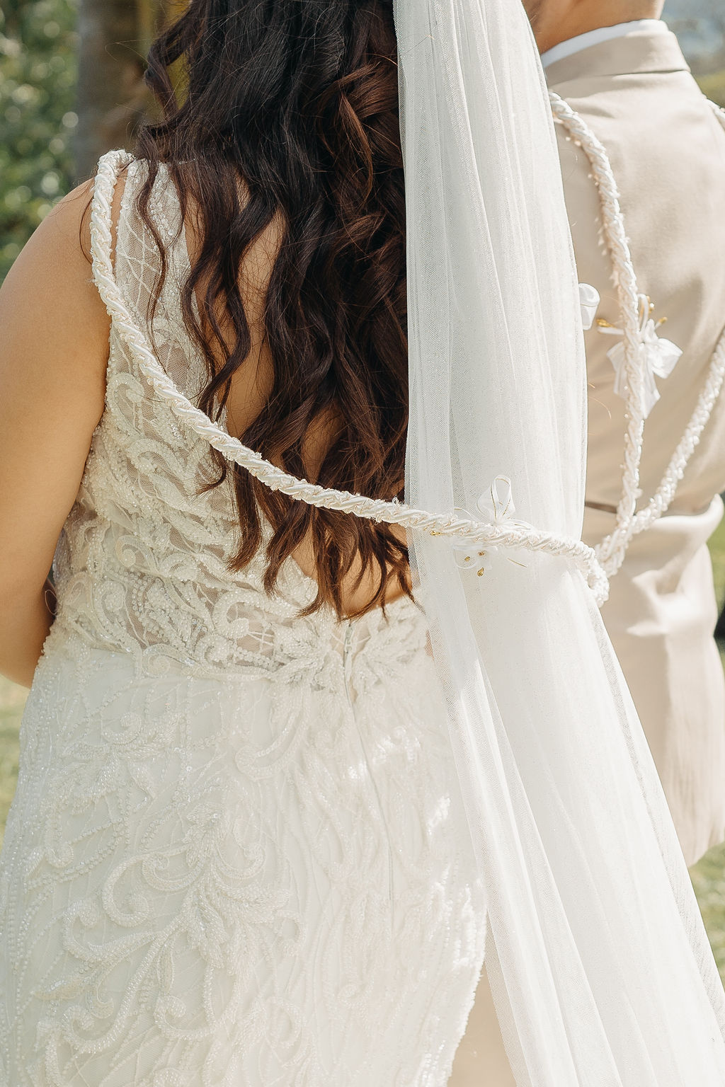
{"label": "twisted pearl-beaded white cord draped over the back of the man's beige suit", "polygon": [[[609,155],[586,122],[572,110],[571,105],[554,91],[549,92],[554,118],[559,121],[587,155],[591,164],[591,176],[599,191],[602,227],[612,258],[622,325],[624,330],[627,428],[625,433],[624,472],[622,495],[616,510],[614,532],[595,548],[597,558],[607,576],[612,578],[621,569],[632,539],[654,524],[670,508],[677,486],[685,475],[687,464],[700,441],[702,432],[712,414],[725,379],[725,334],[713,354],[705,384],[685,434],[673,453],[665,473],[647,505],[637,511],[639,491],[639,467],[645,440],[643,374],[639,362],[640,322],[639,290],[637,276],[627,241],[624,217],[620,205],[616,180]],[[725,113],[713,102],[710,103],[725,128]]]}

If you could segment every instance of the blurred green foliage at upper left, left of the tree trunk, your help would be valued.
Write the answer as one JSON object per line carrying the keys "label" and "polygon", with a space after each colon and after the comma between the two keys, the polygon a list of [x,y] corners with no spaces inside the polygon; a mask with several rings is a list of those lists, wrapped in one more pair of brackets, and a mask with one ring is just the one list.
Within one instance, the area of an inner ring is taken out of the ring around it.
{"label": "blurred green foliage at upper left, left of the tree trunk", "polygon": [[2,0],[0,279],[73,186],[75,0]]}

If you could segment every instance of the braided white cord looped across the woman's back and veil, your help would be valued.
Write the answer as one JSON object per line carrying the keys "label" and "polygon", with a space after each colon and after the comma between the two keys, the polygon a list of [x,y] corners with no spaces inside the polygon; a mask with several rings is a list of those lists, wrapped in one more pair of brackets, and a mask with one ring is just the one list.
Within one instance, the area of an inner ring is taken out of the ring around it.
{"label": "braided white cord looped across the woman's back and veil", "polygon": [[196,434],[227,460],[246,468],[255,479],[308,505],[352,513],[368,521],[399,525],[402,528],[461,539],[472,546],[489,545],[502,548],[524,548],[568,558],[575,562],[595,592],[598,603],[609,595],[607,577],[593,549],[582,540],[567,539],[525,525],[484,524],[453,513],[432,514],[400,502],[364,498],[349,491],[332,490],[298,479],[232,437],[176,388],[158,361],[140,328],[135,324],[113,273],[111,205],[118,170],[127,162],[124,151],[110,151],[99,162],[91,209],[91,251],[93,278],[114,328],[133,355],[157,395]]}

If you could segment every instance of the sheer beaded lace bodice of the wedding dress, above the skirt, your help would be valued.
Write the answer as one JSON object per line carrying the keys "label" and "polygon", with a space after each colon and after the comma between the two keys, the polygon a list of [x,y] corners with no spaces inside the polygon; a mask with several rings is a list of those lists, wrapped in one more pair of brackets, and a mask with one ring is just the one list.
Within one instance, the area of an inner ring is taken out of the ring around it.
{"label": "sheer beaded lace bodice of the wedding dress, above the skirt", "polygon": [[[188,255],[163,167],[150,213],[168,271],[148,321],[160,257],[134,208],[143,168],[132,163],[127,171],[116,279],[166,373],[193,401],[207,378],[182,318]],[[59,630],[72,627],[93,647],[123,650],[145,671],[163,671],[170,661],[200,675],[311,669],[321,684],[339,678],[353,630],[357,646],[378,647],[386,659],[420,651],[425,622],[410,600],[396,601],[387,616],[375,612],[348,624],[328,609],[302,619],[316,587],[293,560],[274,596],[263,588],[261,552],[242,573],[230,573],[238,515],[228,480],[203,491],[215,471],[207,441],[154,397],[112,328],[105,411],[55,558]]]}

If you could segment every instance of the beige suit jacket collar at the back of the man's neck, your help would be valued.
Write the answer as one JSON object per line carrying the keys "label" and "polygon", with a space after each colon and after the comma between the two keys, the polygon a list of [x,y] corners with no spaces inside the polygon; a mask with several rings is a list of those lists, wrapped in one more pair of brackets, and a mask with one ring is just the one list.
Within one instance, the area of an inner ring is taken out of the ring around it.
{"label": "beige suit jacket collar at the back of the man's neck", "polygon": [[647,72],[689,72],[674,34],[636,30],[623,38],[601,41],[554,61],[547,68],[546,77],[549,86],[554,87],[573,79]]}

